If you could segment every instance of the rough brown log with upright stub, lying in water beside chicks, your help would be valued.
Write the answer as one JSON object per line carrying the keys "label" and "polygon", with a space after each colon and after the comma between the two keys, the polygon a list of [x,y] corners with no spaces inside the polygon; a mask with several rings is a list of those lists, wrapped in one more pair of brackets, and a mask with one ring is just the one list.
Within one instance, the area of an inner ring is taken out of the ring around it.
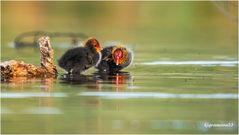
{"label": "rough brown log with upright stub, lying in water beside chicks", "polygon": [[50,44],[49,37],[41,37],[38,41],[40,46],[41,66],[27,64],[23,61],[10,60],[0,64],[1,81],[12,77],[55,77],[57,74],[56,66],[53,62],[54,51]]}

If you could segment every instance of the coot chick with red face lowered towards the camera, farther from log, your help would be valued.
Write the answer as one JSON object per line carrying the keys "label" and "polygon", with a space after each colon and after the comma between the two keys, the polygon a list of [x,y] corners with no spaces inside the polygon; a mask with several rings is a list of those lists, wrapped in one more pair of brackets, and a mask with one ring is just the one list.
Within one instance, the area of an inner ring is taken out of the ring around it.
{"label": "coot chick with red face lowered towards the camera, farther from log", "polygon": [[123,46],[109,46],[101,53],[102,60],[96,68],[103,73],[118,72],[129,66],[133,60],[133,52]]}

